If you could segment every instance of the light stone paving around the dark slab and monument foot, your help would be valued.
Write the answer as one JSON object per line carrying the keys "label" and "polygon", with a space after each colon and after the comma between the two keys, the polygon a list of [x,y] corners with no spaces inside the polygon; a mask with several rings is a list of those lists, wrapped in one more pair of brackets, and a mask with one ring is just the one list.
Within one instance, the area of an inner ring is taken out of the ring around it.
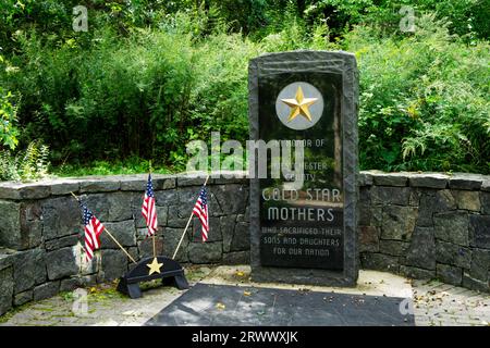
{"label": "light stone paving around the dark slab and monument foot", "polygon": [[[413,310],[416,325],[490,325],[489,294],[479,294],[434,281],[409,281],[390,273],[360,271],[356,288],[256,284],[249,281],[248,266],[193,266],[186,269],[186,274],[191,285],[200,282],[298,291],[412,297],[413,308],[411,303],[406,303],[401,310]],[[107,284],[28,303],[0,316],[0,325],[138,326],[184,293],[149,283],[143,298],[131,300],[114,288],[115,284]],[[220,303],[217,303],[217,307],[219,306]],[[319,324],[320,321],[321,319]]]}

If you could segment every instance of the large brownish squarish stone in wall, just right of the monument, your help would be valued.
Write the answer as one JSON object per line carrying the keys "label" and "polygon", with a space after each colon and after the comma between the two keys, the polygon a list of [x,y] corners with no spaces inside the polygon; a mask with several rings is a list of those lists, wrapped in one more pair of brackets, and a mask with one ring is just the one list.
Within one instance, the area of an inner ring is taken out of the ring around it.
{"label": "large brownish squarish stone in wall, just right of the monument", "polygon": [[418,210],[414,207],[384,207],[381,239],[411,240],[417,214]]}

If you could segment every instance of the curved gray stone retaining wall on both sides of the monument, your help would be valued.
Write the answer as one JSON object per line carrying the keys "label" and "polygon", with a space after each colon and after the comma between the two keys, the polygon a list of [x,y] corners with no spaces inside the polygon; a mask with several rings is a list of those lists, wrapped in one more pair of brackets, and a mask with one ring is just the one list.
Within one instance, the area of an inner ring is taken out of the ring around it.
{"label": "curved gray stone retaining wall on both sides of the monument", "polygon": [[[203,178],[154,175],[159,253],[171,256]],[[12,306],[118,278],[127,258],[106,235],[90,264],[82,262],[79,195],[127,250],[150,256],[140,207],[146,175],[0,183],[0,315]],[[196,220],[177,260],[249,263],[248,181],[210,179],[210,234]],[[362,266],[414,278],[438,277],[490,290],[490,177],[471,174],[362,172]],[[191,228],[189,228],[191,229]]]}

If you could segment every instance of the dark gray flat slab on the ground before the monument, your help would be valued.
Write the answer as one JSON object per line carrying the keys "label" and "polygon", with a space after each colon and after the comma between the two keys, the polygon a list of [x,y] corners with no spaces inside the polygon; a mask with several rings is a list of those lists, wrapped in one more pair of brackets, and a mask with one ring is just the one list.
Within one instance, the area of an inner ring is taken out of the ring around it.
{"label": "dark gray flat slab on the ground before the monument", "polygon": [[196,284],[147,326],[413,326],[411,298]]}

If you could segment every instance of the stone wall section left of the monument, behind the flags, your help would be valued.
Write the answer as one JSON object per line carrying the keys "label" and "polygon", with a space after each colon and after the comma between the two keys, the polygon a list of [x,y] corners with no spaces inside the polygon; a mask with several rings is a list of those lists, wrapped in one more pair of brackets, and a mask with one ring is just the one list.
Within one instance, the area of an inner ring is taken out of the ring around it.
{"label": "stone wall section left of the monument, behind the flags", "polygon": [[[82,262],[82,215],[71,191],[81,196],[133,258],[152,256],[140,213],[146,181],[146,175],[136,175],[0,184],[0,315],[12,306],[115,279],[131,268],[105,233],[101,250],[89,264]],[[203,183],[203,178],[154,175],[158,254],[173,254]],[[194,219],[176,259],[248,263],[247,181],[210,179],[208,191],[209,241],[200,243],[200,224]]]}

